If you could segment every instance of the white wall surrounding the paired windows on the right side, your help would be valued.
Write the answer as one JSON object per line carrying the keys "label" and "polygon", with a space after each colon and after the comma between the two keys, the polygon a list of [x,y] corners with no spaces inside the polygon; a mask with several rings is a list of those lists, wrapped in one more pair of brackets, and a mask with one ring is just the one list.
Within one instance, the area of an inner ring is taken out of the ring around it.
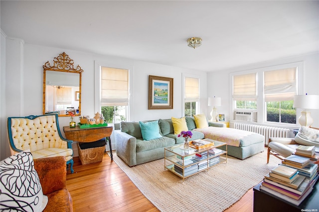
{"label": "white wall surrounding the paired windows on the right side", "polygon": [[[276,65],[282,65],[287,63],[294,63],[303,61],[304,63],[304,91],[310,95],[319,95],[319,53],[313,53],[308,55],[301,55],[298,57],[291,57],[280,59],[276,61],[268,61],[264,63],[252,64],[228,70],[220,70],[216,72],[207,73],[207,96],[208,97],[221,97],[222,104],[219,106],[218,112],[225,114],[225,119],[229,119],[231,112],[231,89],[232,85],[229,82],[229,75],[232,72],[246,71],[252,69],[258,69],[263,67],[270,67]],[[231,62],[231,61],[230,61]],[[208,108],[208,111],[211,108]],[[300,114],[297,114],[299,117]],[[314,118],[314,127],[319,127],[319,110],[311,110],[311,116]],[[298,126],[299,127],[299,126]],[[296,128],[296,127],[295,127]]]}

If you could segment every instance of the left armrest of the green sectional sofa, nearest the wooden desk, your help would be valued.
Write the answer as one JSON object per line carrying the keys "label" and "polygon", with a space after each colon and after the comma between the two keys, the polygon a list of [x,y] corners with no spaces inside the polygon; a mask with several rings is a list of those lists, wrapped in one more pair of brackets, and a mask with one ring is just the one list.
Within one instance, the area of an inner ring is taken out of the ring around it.
{"label": "left armrest of the green sectional sofa, nearest the wooden desk", "polygon": [[136,166],[136,137],[117,129],[114,130],[116,141],[116,154],[130,167]]}

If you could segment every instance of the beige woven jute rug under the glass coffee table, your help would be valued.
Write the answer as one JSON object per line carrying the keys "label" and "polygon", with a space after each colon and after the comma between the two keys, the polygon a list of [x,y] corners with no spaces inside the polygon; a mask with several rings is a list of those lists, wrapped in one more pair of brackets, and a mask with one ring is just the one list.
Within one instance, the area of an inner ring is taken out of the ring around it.
{"label": "beige woven jute rug under the glass coffee table", "polygon": [[267,150],[245,160],[228,156],[219,164],[184,181],[164,170],[164,159],[129,167],[113,153],[116,164],[161,212],[222,212],[280,163]]}

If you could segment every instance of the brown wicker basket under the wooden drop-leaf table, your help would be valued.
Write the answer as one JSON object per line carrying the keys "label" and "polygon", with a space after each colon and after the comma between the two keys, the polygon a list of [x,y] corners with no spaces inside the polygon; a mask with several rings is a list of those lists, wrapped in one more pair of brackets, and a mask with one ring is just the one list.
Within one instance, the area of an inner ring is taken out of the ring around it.
{"label": "brown wicker basket under the wooden drop-leaf table", "polygon": [[96,163],[103,160],[105,146],[81,149],[79,142],[77,145],[79,150],[79,158],[82,165]]}

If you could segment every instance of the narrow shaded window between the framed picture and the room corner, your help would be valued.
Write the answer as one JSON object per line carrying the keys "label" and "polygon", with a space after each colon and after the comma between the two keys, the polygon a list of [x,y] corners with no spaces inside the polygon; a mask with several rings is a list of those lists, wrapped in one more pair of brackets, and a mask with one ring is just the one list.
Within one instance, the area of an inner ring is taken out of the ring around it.
{"label": "narrow shaded window between the framed picture and the room corner", "polygon": [[197,113],[199,101],[198,78],[185,77],[185,116]]}

